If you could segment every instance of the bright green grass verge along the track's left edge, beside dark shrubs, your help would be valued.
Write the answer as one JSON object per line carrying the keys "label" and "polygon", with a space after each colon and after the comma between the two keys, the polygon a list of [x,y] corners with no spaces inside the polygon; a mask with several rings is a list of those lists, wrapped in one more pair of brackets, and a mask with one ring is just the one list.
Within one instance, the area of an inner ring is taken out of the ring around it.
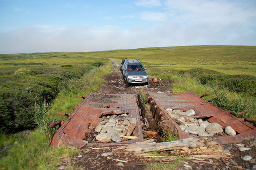
{"label": "bright green grass verge along the track's left edge, beside dark shrubs", "polygon": [[[92,70],[89,74],[85,74],[80,79],[72,82],[73,90],[70,90],[70,83],[62,86],[61,92],[55,102],[45,110],[39,105],[38,128],[32,131],[28,136],[25,131],[14,135],[1,135],[0,144],[6,145],[10,142],[16,144],[10,146],[4,157],[0,158],[0,168],[8,170],[56,170],[60,161],[66,161],[67,169],[74,170],[77,167],[71,165],[70,159],[79,153],[79,149],[75,147],[50,148],[51,137],[55,131],[45,128],[45,120],[54,121],[57,119],[66,119],[65,116],[55,114],[56,111],[66,112],[74,111],[74,107],[83,99],[77,98],[77,94],[86,96],[89,92],[95,92],[104,82],[102,77],[111,71],[109,65],[101,66]],[[62,105],[62,101],[67,100],[66,105]],[[40,114],[44,113],[44,114]],[[40,115],[42,116],[40,118]]]}

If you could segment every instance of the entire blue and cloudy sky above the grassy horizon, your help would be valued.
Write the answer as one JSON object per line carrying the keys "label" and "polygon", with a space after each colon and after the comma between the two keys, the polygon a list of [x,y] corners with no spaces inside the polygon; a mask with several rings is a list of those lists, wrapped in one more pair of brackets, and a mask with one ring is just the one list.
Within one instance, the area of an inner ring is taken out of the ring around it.
{"label": "entire blue and cloudy sky above the grassy horizon", "polygon": [[256,45],[256,0],[0,0],[0,54]]}

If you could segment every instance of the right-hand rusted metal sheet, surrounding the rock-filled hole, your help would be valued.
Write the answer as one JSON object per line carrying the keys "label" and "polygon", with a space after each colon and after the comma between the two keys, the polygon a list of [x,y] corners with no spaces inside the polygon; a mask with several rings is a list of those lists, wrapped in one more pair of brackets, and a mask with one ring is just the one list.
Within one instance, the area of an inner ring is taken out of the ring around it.
{"label": "right-hand rusted metal sheet, surrounding the rock-filled hole", "polygon": [[167,114],[166,108],[172,108],[174,110],[179,109],[184,112],[189,109],[193,109],[195,110],[196,115],[192,118],[209,118],[208,121],[210,123],[219,123],[223,129],[227,126],[231,126],[237,132],[237,135],[235,136],[208,137],[212,138],[214,141],[220,143],[233,143],[241,142],[245,139],[256,138],[256,127],[244,122],[242,119],[233,116],[217,106],[205,102],[195,93],[161,94],[149,92],[147,93],[146,101],[150,103],[153,118],[156,120],[159,129],[165,128],[163,126],[167,125],[172,130],[175,129],[177,131],[179,139],[202,137],[193,136],[182,131],[179,125]]}

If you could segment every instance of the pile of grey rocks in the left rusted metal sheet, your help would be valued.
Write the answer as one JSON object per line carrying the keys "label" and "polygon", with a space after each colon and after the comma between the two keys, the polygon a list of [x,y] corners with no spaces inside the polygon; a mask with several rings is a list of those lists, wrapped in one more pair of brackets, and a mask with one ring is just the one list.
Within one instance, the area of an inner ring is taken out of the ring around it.
{"label": "pile of grey rocks in the left rusted metal sheet", "polygon": [[[121,116],[126,116],[126,114]],[[129,137],[136,127],[137,119],[127,118],[121,120],[116,119],[116,117],[117,115],[105,117],[104,120],[96,126],[94,131],[99,133],[96,135],[97,141],[108,143],[111,141],[121,142],[130,139]]]}

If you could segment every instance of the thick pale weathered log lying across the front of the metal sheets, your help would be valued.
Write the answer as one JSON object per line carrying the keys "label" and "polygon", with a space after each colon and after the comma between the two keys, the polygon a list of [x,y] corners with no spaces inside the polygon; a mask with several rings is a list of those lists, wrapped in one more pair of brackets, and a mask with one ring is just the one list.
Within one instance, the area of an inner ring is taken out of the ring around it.
{"label": "thick pale weathered log lying across the front of the metal sheets", "polygon": [[150,143],[136,143],[136,144],[130,144],[128,146],[122,146],[117,148],[121,149],[122,152],[128,154],[128,153],[134,153],[134,154],[141,154],[145,152],[152,152],[152,151],[162,151],[162,150],[171,150],[172,148],[176,147],[202,147],[205,146],[205,144],[202,141],[199,141],[198,139],[193,138],[186,138],[186,139],[180,139],[176,141],[171,142],[162,142],[162,143],[156,143],[156,142],[150,142]]}

